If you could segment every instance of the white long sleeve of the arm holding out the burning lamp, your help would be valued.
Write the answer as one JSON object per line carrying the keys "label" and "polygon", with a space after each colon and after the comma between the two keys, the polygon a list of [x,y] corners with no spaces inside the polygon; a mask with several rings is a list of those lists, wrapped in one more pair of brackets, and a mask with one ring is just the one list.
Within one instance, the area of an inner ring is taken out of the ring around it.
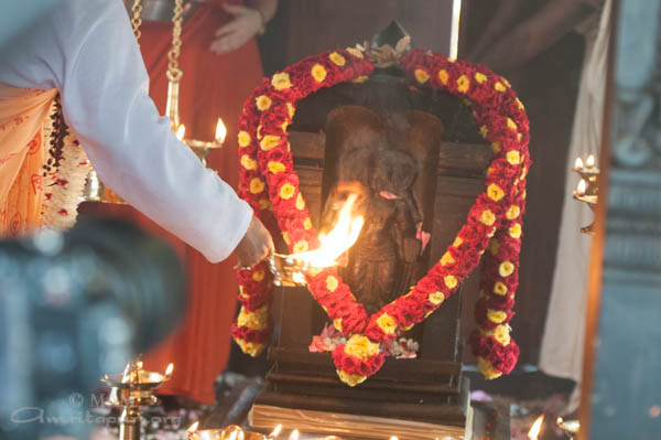
{"label": "white long sleeve of the arm holding out the burning lamp", "polygon": [[53,89],[99,178],[213,262],[252,210],[176,140],[121,0],[2,0],[0,83]]}

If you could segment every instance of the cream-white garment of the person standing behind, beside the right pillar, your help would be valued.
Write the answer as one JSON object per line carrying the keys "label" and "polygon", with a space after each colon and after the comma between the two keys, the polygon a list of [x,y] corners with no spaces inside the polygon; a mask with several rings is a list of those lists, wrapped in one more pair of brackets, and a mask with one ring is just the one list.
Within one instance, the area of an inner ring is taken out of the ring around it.
{"label": "cream-white garment of the person standing behind, beside the right pillar", "polygon": [[[598,26],[593,26],[586,33],[586,56],[567,169],[573,169],[577,157],[585,161],[588,154],[595,154],[597,158],[599,155],[610,35],[610,0],[605,2]],[[590,236],[582,234],[581,227],[590,224],[594,214],[585,203],[572,198],[572,190],[576,187],[578,180],[578,174],[573,171],[567,173],[540,368],[552,376],[581,383],[587,313],[587,265],[592,247]]]}

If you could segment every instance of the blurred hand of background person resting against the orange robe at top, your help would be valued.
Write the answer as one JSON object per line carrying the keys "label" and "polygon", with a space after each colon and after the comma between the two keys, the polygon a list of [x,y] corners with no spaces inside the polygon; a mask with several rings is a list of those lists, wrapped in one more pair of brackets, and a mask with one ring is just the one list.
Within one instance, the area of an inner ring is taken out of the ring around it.
{"label": "blurred hand of background person resting against the orange robe at top", "polygon": [[261,12],[241,4],[223,4],[234,19],[216,31],[216,39],[209,46],[215,54],[231,52],[241,47],[266,24]]}

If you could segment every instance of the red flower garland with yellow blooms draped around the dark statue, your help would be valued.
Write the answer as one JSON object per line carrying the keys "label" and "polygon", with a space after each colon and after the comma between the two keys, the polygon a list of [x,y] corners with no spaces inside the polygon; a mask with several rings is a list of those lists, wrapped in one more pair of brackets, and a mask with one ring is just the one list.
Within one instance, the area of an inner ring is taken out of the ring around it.
{"label": "red flower garland with yellow blooms draped around the dark statue", "polygon": [[[333,268],[311,270],[310,291],[334,325],[349,337],[335,348],[333,359],[340,379],[353,386],[383,364],[380,344],[433,313],[485,254],[475,309],[479,330],[472,334],[470,345],[483,374],[498,377],[511,372],[519,355],[509,334],[509,321],[518,285],[521,216],[530,167],[528,118],[508,82],[484,66],[420,50],[405,53],[400,64],[413,84],[448,92],[472,106],[481,136],[494,149],[487,191],[477,197],[466,225],[441,260],[410,292],[371,316]],[[272,234],[282,230],[292,253],[318,246],[288,142],[286,127],[294,105],[322,87],[361,81],[372,69],[356,49],[326,52],[264,78],[246,103],[239,121],[240,195]],[[257,355],[272,328],[271,277],[261,264],[249,271],[240,270],[239,280],[242,308],[232,336],[243,352]]]}

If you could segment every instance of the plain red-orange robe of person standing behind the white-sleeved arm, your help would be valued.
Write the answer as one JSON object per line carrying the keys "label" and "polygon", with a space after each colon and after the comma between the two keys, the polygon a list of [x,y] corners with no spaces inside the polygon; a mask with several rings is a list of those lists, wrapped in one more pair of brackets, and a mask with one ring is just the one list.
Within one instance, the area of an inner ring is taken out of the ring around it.
{"label": "plain red-orange robe of person standing behind the white-sleeved arm", "polygon": [[[225,146],[207,158],[207,167],[218,171],[235,189],[238,184],[237,126],[243,101],[262,77],[254,40],[224,55],[208,50],[216,30],[230,17],[219,7],[224,1],[201,4],[184,22],[180,67],[184,72],[180,92],[180,115],[186,138],[212,140],[216,121],[227,126]],[[144,22],[139,40],[150,74],[150,96],[165,114],[167,97],[167,51],[172,41],[169,23]],[[149,167],[149,164],[145,164]],[[221,264],[209,264],[195,249],[165,233],[129,206],[101,206],[101,212],[130,216],[151,230],[167,236],[185,256],[189,276],[188,311],[181,328],[144,357],[145,367],[164,371],[174,363],[172,379],[161,394],[180,395],[210,404],[215,401],[214,382],[229,357],[229,330],[236,309],[238,281],[234,256]],[[232,227],[232,225],[218,225]]]}

